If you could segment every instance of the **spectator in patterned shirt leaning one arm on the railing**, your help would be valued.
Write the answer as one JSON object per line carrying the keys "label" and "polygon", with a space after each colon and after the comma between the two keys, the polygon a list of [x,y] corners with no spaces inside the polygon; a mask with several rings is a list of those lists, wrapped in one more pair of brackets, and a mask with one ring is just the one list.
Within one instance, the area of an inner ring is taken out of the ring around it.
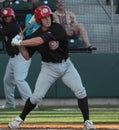
{"label": "spectator in patterned shirt leaning one arm on the railing", "polygon": [[65,0],[55,0],[56,11],[53,13],[54,22],[60,23],[66,30],[69,38],[81,37],[87,48],[93,49],[90,44],[87,32],[82,23],[78,23],[76,16],[65,10]]}

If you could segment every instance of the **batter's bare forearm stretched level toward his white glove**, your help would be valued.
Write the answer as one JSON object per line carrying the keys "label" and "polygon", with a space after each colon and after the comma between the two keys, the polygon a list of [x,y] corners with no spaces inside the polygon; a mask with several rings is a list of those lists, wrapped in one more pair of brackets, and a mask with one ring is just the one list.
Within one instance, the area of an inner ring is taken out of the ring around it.
{"label": "batter's bare forearm stretched level toward his white glove", "polygon": [[20,45],[23,46],[38,46],[43,44],[43,39],[41,37],[35,37],[28,40],[23,40],[20,42]]}

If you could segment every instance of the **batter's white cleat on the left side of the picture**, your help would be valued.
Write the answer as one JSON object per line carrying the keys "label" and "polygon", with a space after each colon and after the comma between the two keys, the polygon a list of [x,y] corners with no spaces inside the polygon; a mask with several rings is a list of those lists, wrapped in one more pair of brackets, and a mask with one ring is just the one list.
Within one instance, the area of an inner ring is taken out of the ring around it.
{"label": "batter's white cleat on the left side of the picture", "polygon": [[17,129],[22,123],[23,120],[20,117],[16,117],[12,122],[9,122],[8,127],[10,129]]}

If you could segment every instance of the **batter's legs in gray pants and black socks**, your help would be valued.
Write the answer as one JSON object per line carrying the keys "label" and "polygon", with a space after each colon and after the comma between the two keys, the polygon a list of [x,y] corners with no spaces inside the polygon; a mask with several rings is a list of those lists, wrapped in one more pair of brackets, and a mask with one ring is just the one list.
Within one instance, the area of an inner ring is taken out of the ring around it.
{"label": "batter's legs in gray pants and black socks", "polygon": [[22,113],[20,114],[18,119],[16,119],[17,123],[16,120],[15,123],[14,121],[9,123],[10,128],[17,128],[25,120],[28,113],[35,108],[37,103],[41,102],[50,86],[58,78],[61,78],[62,81],[74,92],[78,99],[78,106],[83,114],[84,122],[89,121],[89,110],[86,90],[82,85],[82,81],[77,70],[73,66],[70,59],[67,59],[66,62],[62,61],[62,63],[57,64],[42,62],[41,72],[38,76],[34,93],[26,101]]}

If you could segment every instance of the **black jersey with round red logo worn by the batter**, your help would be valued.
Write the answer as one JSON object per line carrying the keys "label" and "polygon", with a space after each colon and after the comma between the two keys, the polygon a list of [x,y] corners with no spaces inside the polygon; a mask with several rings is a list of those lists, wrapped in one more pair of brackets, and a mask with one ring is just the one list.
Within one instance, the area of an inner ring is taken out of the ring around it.
{"label": "black jersey with round red logo worn by the batter", "polygon": [[42,61],[60,63],[63,59],[68,58],[68,40],[64,28],[58,23],[52,23],[47,31],[42,28],[36,30],[31,36],[42,37],[44,44],[27,47],[29,55],[32,56],[35,51],[41,54]]}

